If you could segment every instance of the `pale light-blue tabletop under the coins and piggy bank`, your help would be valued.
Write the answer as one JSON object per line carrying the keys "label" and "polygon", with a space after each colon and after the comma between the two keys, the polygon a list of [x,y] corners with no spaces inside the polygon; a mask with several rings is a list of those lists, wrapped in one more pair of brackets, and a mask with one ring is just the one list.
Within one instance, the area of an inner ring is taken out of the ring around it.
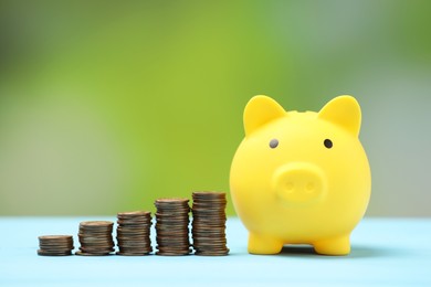
{"label": "pale light-blue tabletop under the coins and piggy bank", "polygon": [[39,235],[71,234],[76,247],[87,220],[115,217],[0,217],[0,286],[431,286],[431,219],[366,217],[339,257],[308,246],[250,255],[236,217],[227,223],[229,256],[36,255]]}

